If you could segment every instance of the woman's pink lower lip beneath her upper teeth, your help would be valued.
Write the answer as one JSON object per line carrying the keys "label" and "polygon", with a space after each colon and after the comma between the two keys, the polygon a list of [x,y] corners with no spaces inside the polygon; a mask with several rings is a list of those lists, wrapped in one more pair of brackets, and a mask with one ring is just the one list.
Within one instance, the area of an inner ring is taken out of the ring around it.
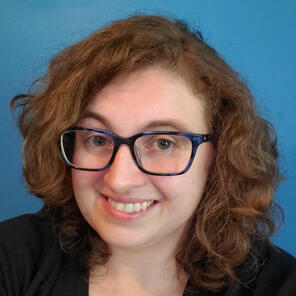
{"label": "woman's pink lower lip beneath her upper teeth", "polygon": [[155,206],[158,204],[158,202],[152,204],[144,211],[139,212],[132,212],[132,213],[126,213],[123,211],[116,210],[111,206],[111,204],[108,202],[107,198],[102,198],[103,207],[106,213],[111,216],[113,219],[121,220],[121,221],[135,221],[143,218],[147,214],[149,214]]}

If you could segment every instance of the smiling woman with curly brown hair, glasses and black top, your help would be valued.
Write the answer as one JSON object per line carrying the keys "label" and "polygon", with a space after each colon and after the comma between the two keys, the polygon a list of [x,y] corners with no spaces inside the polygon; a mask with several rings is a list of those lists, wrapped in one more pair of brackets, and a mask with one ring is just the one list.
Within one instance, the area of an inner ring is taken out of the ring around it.
{"label": "smiling woman with curly brown hair, glasses and black top", "polygon": [[44,207],[1,224],[3,295],[295,295],[275,133],[199,32],[117,21],[37,85],[12,108]]}

